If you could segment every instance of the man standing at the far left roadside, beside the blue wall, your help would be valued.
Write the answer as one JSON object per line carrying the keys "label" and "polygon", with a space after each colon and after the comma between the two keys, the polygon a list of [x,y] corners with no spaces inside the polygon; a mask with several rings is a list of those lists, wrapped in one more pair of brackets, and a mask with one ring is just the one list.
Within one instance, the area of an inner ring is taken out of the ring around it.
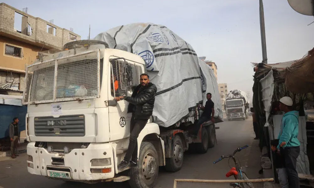
{"label": "man standing at the far left roadside, beside the blue wall", "polygon": [[16,156],[19,156],[16,153],[16,149],[19,143],[19,118],[13,118],[13,122],[9,125],[9,136],[11,141],[11,157],[14,159]]}

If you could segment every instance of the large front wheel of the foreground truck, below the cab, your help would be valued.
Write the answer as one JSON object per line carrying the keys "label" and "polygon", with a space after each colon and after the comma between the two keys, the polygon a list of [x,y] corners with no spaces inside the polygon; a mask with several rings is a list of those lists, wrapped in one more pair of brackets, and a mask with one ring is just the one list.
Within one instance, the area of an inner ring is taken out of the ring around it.
{"label": "large front wheel of the foreground truck, below the cab", "polygon": [[153,144],[142,142],[138,166],[130,169],[129,184],[132,188],[152,188],[158,176],[158,154]]}

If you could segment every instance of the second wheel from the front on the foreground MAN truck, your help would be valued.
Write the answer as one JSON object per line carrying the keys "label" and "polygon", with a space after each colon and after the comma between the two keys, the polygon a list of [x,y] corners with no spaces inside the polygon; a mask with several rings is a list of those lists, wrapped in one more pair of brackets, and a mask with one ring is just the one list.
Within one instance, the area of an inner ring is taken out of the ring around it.
{"label": "second wheel from the front on the foreground MAN truck", "polygon": [[183,144],[179,135],[173,139],[173,157],[166,158],[165,170],[169,172],[176,172],[181,169],[183,163]]}

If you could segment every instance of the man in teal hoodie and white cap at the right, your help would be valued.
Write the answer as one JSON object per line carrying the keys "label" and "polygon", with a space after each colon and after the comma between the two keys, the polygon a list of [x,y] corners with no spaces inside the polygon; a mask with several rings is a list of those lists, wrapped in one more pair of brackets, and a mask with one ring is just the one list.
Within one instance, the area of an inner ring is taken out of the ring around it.
{"label": "man in teal hoodie and white cap at the right", "polygon": [[299,188],[299,176],[296,171],[296,159],[300,154],[299,112],[292,111],[293,101],[290,97],[282,97],[279,100],[279,108],[284,111],[281,121],[280,133],[278,135],[278,149],[282,147],[284,164],[287,170],[289,188]]}

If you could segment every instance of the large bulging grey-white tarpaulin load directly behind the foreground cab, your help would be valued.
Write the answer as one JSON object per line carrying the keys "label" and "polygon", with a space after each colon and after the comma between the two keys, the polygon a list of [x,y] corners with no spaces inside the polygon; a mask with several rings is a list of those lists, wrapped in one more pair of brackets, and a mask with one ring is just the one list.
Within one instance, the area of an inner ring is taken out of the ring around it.
{"label": "large bulging grey-white tarpaulin load directly behind the foreground cab", "polygon": [[149,79],[157,86],[153,118],[160,126],[175,124],[188,114],[189,107],[203,101],[198,57],[190,44],[167,27],[128,24],[109,29],[94,39],[143,58]]}

